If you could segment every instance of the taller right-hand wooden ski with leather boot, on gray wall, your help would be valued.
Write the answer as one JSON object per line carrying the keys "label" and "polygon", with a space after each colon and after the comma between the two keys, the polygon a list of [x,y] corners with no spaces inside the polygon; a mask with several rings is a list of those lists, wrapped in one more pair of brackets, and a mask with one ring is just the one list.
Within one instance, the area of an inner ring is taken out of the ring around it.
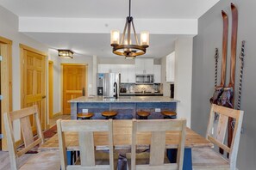
{"label": "taller right-hand wooden ski with leather boot, on gray wall", "polygon": [[[230,79],[227,88],[224,88],[223,93],[218,101],[219,105],[234,108],[234,76],[235,76],[235,58],[236,58],[236,44],[237,44],[237,28],[238,28],[238,11],[231,3],[232,11],[232,37],[231,37],[231,58],[230,58]],[[228,147],[232,143],[233,129],[232,129],[233,118],[228,118]]]}

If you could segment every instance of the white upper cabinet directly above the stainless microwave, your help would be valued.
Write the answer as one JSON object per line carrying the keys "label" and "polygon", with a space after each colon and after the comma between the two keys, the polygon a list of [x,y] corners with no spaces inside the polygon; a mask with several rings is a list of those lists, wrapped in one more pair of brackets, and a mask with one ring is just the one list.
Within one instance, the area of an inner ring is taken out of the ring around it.
{"label": "white upper cabinet directly above the stainless microwave", "polygon": [[136,58],[135,74],[153,74],[153,58]]}

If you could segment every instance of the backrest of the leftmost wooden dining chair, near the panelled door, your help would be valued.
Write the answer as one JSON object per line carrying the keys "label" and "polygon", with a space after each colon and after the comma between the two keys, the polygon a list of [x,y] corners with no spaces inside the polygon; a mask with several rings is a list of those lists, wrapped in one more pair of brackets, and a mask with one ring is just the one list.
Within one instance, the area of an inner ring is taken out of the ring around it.
{"label": "backrest of the leftmost wooden dining chair, near the panelled door", "polygon": [[[9,149],[9,158],[11,169],[17,169],[16,158],[28,152],[40,143],[44,143],[44,137],[41,131],[41,121],[39,119],[39,110],[37,106],[30,106],[14,112],[4,112],[3,114],[4,128],[7,137],[7,144]],[[17,144],[14,138],[13,122],[20,121],[22,140],[24,148],[17,151]],[[34,138],[34,130],[31,121],[36,125],[37,137]]]}

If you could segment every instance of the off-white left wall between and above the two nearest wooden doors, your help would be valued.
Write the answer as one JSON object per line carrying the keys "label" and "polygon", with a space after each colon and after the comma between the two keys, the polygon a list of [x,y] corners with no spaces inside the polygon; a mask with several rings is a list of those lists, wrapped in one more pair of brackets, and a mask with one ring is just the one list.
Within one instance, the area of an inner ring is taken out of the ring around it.
{"label": "off-white left wall between and above the two nearest wooden doors", "polygon": [[[47,53],[47,46],[18,32],[18,17],[9,10],[0,6],[0,36],[13,41],[12,44],[12,99],[13,110],[21,109],[21,67],[20,67],[20,44],[33,47]],[[15,138],[20,139],[19,122],[14,124]]]}

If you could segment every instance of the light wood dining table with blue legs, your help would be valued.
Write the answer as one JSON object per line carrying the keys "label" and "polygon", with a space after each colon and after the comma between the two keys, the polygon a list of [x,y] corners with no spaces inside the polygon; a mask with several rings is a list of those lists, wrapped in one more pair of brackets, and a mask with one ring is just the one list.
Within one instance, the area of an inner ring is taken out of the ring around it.
{"label": "light wood dining table with blue legs", "polygon": [[[79,120],[83,121],[83,120]],[[147,121],[147,120],[146,120]],[[72,151],[78,151],[78,133],[66,132],[66,149],[71,155]],[[170,162],[176,161],[176,151],[179,140],[179,132],[166,131],[165,135],[165,148],[166,154]],[[108,132],[94,132],[94,145],[97,150],[108,149]],[[113,120],[113,143],[116,152],[118,150],[129,150],[132,143],[132,120],[131,119],[116,119]],[[150,132],[140,132],[137,134],[137,149],[149,149],[151,143]],[[191,149],[194,147],[213,147],[206,138],[192,131],[189,127],[186,128],[185,149],[184,149],[184,170],[192,169],[192,153]],[[58,134],[49,138],[47,142],[42,143],[39,147],[41,151],[44,150],[58,150],[59,140]],[[68,156],[69,157],[69,156]],[[71,159],[71,158],[68,158]]]}

